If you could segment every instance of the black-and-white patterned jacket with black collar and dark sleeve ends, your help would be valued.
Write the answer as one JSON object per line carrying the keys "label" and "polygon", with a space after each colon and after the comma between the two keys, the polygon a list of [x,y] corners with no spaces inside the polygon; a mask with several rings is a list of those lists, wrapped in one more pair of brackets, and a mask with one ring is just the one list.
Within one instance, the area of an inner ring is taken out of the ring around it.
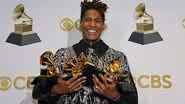
{"label": "black-and-white patterned jacket with black collar and dark sleeve ends", "polygon": [[[84,86],[80,91],[71,94],[56,95],[50,92],[51,86],[47,89],[47,94],[43,95],[40,93],[42,97],[37,98],[40,104],[138,104],[137,90],[126,56],[122,52],[110,48],[102,40],[92,46],[89,46],[84,40],[81,40],[71,47],[59,49],[54,56],[54,60],[57,66],[62,66],[64,63],[70,63],[72,59],[77,59],[81,54],[96,64],[98,69],[108,74],[109,77],[115,78],[119,76],[116,81],[116,87],[121,94],[120,99],[112,101],[104,96],[98,95],[92,91],[91,86]],[[116,71],[119,73],[110,70],[110,65],[113,65],[115,61],[120,63]],[[62,68],[60,71],[61,73],[64,72]],[[91,79],[92,77],[89,78]],[[39,91],[42,92],[42,89]]]}

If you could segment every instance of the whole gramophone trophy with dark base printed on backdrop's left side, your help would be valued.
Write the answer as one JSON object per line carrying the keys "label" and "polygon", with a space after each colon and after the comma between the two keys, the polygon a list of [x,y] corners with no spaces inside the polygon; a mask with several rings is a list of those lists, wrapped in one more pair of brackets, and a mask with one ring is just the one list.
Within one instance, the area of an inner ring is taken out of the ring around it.
{"label": "whole gramophone trophy with dark base printed on backdrop's left side", "polygon": [[12,32],[6,42],[19,46],[40,42],[37,33],[32,32],[32,18],[24,12],[24,5],[19,4],[14,9],[15,32]]}

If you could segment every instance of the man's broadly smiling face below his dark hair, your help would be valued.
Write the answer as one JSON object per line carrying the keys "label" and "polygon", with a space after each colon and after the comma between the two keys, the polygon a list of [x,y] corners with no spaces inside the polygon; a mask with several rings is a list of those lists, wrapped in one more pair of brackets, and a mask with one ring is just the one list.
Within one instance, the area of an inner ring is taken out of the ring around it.
{"label": "man's broadly smiling face below his dark hair", "polygon": [[80,28],[84,39],[96,41],[100,39],[100,35],[104,30],[103,18],[98,11],[94,9],[87,10],[80,22]]}

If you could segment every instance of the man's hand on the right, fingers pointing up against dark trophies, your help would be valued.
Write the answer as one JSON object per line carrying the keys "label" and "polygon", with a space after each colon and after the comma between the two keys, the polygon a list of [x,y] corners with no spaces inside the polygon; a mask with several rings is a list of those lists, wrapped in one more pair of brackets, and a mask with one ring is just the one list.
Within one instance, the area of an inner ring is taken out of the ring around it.
{"label": "man's hand on the right, fingers pointing up against dark trophies", "polygon": [[117,91],[116,83],[110,78],[105,78],[103,75],[99,74],[102,82],[93,75],[94,91],[100,95],[103,95],[113,101],[120,98],[120,93]]}

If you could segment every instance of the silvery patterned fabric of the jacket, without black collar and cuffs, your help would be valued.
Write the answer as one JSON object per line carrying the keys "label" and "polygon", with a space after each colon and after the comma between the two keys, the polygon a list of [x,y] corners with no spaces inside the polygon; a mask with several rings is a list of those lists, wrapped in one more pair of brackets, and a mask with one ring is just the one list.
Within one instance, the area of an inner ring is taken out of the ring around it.
{"label": "silvery patterned fabric of the jacket, without black collar and cuffs", "polygon": [[[121,90],[120,93],[136,91],[134,82],[131,78],[132,76],[129,70],[126,56],[122,52],[116,51],[108,46],[104,46],[106,44],[101,42],[99,43],[100,46],[96,46],[96,48],[84,46],[85,43],[81,41],[80,43],[76,44],[78,45],[77,47],[81,46],[86,48],[75,50],[74,45],[69,48],[59,49],[55,54],[55,62],[57,65],[61,66],[63,63],[69,61],[69,59],[78,58],[79,54],[83,53],[88,58],[88,60],[92,61],[93,63],[99,66],[99,70],[102,70],[105,73],[109,74],[110,75],[109,77],[114,77],[116,76],[117,73],[110,73],[110,71],[107,70],[107,67],[115,60],[117,60],[120,62],[118,70],[123,74],[121,76],[122,77],[121,80],[117,81],[117,85],[120,86]],[[98,48],[107,47],[107,49],[99,50],[97,49],[97,47]],[[97,50],[99,52],[97,52]],[[63,72],[62,69],[61,72]],[[106,97],[94,93],[92,94],[92,90],[87,86],[84,86],[78,92],[61,95],[57,101],[57,104],[114,104],[114,103],[116,104],[116,102],[113,102]]]}

